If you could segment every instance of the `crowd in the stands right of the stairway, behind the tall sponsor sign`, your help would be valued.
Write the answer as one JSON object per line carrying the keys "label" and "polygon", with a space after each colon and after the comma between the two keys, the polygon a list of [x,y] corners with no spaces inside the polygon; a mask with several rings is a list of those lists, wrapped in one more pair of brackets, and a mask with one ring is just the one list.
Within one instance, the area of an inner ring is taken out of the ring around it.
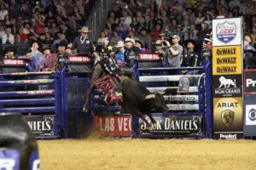
{"label": "crowd in the stands right of the stairway, behind the tall sponsor sign", "polygon": [[119,0],[108,12],[98,42],[106,37],[114,45],[130,37],[153,52],[152,43],[161,36],[172,43],[172,36],[177,35],[181,45],[191,39],[195,44],[210,42],[212,19],[236,16],[243,16],[244,34],[252,37],[250,44],[255,46],[256,7],[239,0]]}

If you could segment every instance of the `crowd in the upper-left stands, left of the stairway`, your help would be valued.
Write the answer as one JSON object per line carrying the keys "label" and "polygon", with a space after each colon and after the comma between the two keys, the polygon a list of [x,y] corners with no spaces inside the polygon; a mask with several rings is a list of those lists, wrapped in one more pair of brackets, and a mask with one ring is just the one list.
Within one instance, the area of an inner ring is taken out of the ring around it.
{"label": "crowd in the upper-left stands, left of the stairway", "polygon": [[[95,1],[0,1],[0,44],[73,42]],[[52,50],[56,53],[55,45]]]}

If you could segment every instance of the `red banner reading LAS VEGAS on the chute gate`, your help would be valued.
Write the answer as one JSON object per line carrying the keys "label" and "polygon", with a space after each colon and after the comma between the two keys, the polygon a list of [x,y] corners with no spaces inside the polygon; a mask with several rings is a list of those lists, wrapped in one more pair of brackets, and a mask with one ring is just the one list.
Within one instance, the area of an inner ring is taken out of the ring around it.
{"label": "red banner reading LAS VEGAS on the chute gate", "polygon": [[102,136],[131,136],[131,116],[94,116],[93,129],[95,134]]}

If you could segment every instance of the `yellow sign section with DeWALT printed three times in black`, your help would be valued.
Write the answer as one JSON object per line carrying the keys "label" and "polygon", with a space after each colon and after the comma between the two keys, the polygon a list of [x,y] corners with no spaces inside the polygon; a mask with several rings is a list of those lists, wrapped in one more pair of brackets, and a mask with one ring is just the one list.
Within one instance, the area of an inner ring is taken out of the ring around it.
{"label": "yellow sign section with DeWALT printed three times in black", "polygon": [[241,46],[212,47],[212,74],[241,74]]}

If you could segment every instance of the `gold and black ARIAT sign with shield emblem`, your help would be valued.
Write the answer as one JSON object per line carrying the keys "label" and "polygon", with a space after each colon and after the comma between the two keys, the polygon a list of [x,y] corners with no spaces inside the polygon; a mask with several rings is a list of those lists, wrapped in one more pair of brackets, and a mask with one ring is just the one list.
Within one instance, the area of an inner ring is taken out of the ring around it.
{"label": "gold and black ARIAT sign with shield emblem", "polygon": [[214,131],[242,132],[242,98],[215,98],[213,108]]}

